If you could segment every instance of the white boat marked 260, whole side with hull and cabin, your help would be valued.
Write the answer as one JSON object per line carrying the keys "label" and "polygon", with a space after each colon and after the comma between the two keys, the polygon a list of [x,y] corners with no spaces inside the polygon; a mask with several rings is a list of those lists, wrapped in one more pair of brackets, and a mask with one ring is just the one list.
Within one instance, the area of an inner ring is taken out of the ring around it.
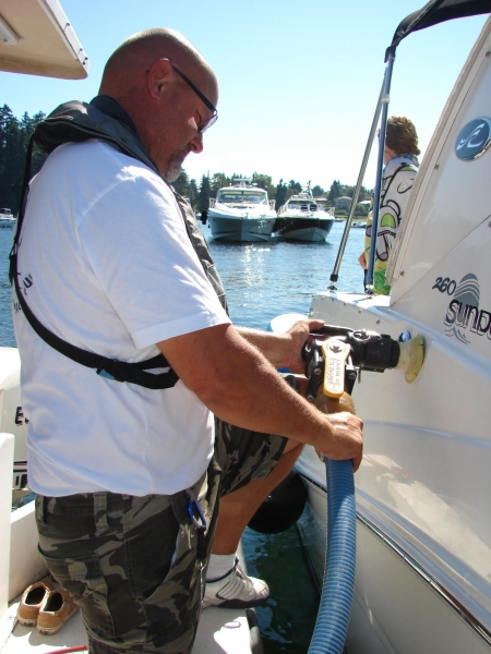
{"label": "white boat marked 260, whole side with hull and cabin", "polygon": [[[491,647],[490,48],[491,20],[419,169],[391,251],[391,296],[326,291],[309,313],[424,341],[411,384],[361,371],[352,392],[364,451],[349,654]],[[324,470],[310,448],[298,469],[322,520]]]}

